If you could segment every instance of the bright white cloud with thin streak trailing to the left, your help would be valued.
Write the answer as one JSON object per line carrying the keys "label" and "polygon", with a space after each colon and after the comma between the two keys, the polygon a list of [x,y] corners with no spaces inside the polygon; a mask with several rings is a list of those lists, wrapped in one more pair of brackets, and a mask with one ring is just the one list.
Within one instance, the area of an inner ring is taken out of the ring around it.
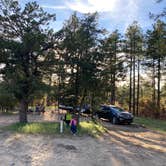
{"label": "bright white cloud with thin streak trailing to the left", "polygon": [[[137,16],[139,0],[65,0],[63,5],[43,8],[72,10],[80,13],[104,13],[102,16],[131,20]],[[102,18],[104,19],[104,18]]]}

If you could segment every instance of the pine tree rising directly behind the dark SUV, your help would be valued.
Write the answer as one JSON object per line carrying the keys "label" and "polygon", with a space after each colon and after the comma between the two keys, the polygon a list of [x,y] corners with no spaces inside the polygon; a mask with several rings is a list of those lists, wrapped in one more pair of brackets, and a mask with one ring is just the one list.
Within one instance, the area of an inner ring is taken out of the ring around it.
{"label": "pine tree rising directly behind the dark SUV", "polygon": [[110,93],[110,102],[115,104],[116,89],[119,80],[125,77],[125,70],[123,65],[123,57],[120,53],[123,52],[121,48],[121,36],[118,31],[114,31],[103,42],[103,84],[105,91]]}

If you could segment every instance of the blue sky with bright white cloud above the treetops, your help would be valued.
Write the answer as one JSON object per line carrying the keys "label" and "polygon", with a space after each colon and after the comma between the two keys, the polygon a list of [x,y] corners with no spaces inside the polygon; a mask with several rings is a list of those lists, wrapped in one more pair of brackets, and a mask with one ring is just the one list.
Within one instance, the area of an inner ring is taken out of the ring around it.
{"label": "blue sky with bright white cloud above the treetops", "polygon": [[[21,5],[31,0],[18,0]],[[77,11],[78,13],[99,13],[99,27],[109,32],[118,29],[122,34],[134,20],[144,31],[150,29],[153,20],[149,12],[160,13],[166,6],[166,0],[156,3],[156,0],[36,0],[45,11],[56,14],[56,21],[51,27],[58,31],[65,20]]]}

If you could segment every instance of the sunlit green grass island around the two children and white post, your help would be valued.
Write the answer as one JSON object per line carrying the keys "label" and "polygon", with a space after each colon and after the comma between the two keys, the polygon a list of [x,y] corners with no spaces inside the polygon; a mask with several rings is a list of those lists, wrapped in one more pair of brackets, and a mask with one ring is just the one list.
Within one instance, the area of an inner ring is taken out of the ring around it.
{"label": "sunlit green grass island around the two children and white post", "polygon": [[[4,127],[4,130],[13,132],[26,133],[26,134],[60,134],[59,123],[40,122],[40,123],[15,123]],[[99,123],[95,122],[81,122],[78,127],[77,135],[91,135],[98,137],[106,132],[106,129]],[[63,135],[70,134],[70,127],[64,125]]]}

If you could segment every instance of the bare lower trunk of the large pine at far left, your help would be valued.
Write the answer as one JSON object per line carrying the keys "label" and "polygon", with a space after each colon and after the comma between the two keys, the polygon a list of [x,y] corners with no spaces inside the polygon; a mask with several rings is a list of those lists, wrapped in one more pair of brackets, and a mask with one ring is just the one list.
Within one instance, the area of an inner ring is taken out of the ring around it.
{"label": "bare lower trunk of the large pine at far left", "polygon": [[20,110],[19,110],[19,120],[21,123],[27,123],[27,111],[28,111],[28,102],[26,99],[21,99],[20,101]]}

